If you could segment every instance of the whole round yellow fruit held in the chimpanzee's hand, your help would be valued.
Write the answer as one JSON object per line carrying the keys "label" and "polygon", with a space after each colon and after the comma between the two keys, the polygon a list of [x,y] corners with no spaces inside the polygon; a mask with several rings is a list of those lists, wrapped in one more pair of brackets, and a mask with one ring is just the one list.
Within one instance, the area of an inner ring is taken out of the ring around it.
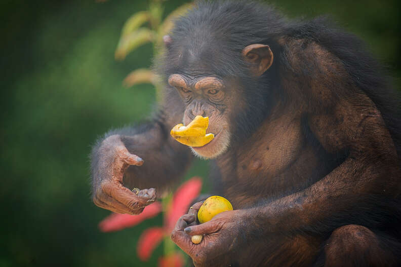
{"label": "whole round yellow fruit held in the chimpanzee's hand", "polygon": [[210,221],[215,215],[227,210],[232,210],[228,200],[220,196],[209,197],[198,210],[198,220],[200,223]]}

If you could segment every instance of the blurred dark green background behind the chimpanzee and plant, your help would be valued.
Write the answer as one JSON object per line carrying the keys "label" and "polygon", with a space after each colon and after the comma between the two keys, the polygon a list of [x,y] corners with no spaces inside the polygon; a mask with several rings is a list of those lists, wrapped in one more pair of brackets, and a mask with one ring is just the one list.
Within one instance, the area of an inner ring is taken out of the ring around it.
{"label": "blurred dark green background behind the chimpanzee and plant", "polygon": [[[184,1],[165,2],[165,15]],[[400,3],[394,1],[273,0],[291,17],[331,14],[368,43],[388,66],[399,89]],[[91,145],[112,127],[146,119],[154,106],[151,85],[122,81],[151,64],[144,45],[116,62],[124,22],[145,1],[2,1],[0,130],[2,184],[0,267],[155,266],[136,256],[144,228],[100,233],[109,214],[90,197]],[[206,176],[197,161],[191,175]],[[207,186],[206,186],[207,188]]]}

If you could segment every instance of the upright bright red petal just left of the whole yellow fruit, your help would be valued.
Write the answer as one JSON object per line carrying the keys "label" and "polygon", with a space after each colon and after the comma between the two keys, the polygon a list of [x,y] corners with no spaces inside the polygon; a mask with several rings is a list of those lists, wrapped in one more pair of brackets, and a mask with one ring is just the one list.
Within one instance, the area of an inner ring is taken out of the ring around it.
{"label": "upright bright red petal just left of the whole yellow fruit", "polygon": [[193,177],[178,187],[165,218],[168,231],[173,230],[177,220],[188,211],[188,206],[199,195],[201,188],[202,179],[199,177]]}

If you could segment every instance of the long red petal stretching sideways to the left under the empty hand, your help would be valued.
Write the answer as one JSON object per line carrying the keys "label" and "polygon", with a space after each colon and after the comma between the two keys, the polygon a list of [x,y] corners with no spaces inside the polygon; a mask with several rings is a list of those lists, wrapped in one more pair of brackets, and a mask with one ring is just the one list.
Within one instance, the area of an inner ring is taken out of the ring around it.
{"label": "long red petal stretching sideways to the left under the empty hand", "polygon": [[112,213],[99,223],[99,228],[101,232],[122,230],[124,228],[137,225],[143,220],[156,216],[161,210],[162,204],[159,202],[154,202],[149,206],[146,206],[142,213],[138,215]]}

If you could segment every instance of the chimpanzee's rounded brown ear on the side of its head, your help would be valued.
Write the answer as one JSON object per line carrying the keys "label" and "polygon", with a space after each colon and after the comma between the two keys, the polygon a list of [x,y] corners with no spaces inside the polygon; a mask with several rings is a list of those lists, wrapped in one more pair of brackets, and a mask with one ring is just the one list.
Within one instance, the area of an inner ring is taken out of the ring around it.
{"label": "chimpanzee's rounded brown ear on the side of its head", "polygon": [[253,44],[243,49],[245,60],[252,63],[255,76],[262,75],[273,63],[273,53],[267,45]]}

